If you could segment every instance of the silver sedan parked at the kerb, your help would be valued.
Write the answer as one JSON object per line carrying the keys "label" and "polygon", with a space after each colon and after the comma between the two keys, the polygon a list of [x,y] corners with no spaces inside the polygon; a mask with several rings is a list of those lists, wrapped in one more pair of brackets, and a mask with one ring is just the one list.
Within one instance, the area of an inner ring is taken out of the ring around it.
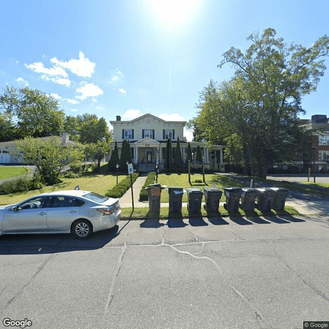
{"label": "silver sedan parked at the kerb", "polygon": [[85,239],[120,217],[119,199],[81,190],[42,193],[0,209],[0,235],[72,233]]}

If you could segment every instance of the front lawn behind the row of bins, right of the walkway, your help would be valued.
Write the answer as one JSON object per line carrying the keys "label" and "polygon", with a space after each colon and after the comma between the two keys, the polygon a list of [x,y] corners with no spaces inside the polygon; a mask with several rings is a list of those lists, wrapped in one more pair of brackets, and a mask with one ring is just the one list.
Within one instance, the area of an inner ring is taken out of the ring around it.
{"label": "front lawn behind the row of bins, right of the walkway", "polygon": [[[195,179],[203,179],[202,174],[191,174],[191,184],[189,183],[189,175],[188,174],[159,174],[158,175],[158,184],[161,186],[165,185],[167,187],[178,186],[183,189],[187,188],[198,188],[202,192],[204,191],[204,187],[214,187],[214,185],[221,189],[225,187],[244,187],[233,179],[227,178],[226,176],[217,175],[217,174],[205,174],[206,184],[196,183]],[[203,197],[203,201],[205,201],[205,197]],[[224,193],[222,194],[221,201],[225,201]],[[169,202],[169,194],[168,191],[161,192],[160,202]],[[187,193],[183,194],[182,202],[187,202]]]}

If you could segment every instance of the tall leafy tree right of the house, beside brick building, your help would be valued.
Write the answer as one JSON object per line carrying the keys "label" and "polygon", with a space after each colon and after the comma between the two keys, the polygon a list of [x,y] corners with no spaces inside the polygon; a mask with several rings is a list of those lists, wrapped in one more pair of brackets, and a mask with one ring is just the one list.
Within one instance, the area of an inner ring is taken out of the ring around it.
{"label": "tall leafy tree right of the house, beside brick building", "polygon": [[316,90],[329,53],[326,35],[309,48],[275,36],[268,28],[248,37],[245,53],[226,51],[218,67],[231,64],[234,78],[219,86],[211,81],[200,95],[198,116],[189,122],[209,143],[239,143],[228,154],[243,159],[245,173],[252,165],[262,177],[272,163],[301,157],[301,99]]}

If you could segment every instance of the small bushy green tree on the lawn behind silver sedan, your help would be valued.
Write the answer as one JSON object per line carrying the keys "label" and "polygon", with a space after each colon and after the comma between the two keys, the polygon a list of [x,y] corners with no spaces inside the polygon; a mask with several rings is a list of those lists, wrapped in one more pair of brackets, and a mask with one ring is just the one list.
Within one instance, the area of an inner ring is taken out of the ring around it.
{"label": "small bushy green tree on the lawn behind silver sedan", "polygon": [[53,136],[47,140],[26,137],[17,141],[16,155],[24,163],[36,167],[41,179],[47,185],[59,181],[59,176],[65,166],[83,160],[83,149],[80,147],[63,147],[60,138]]}

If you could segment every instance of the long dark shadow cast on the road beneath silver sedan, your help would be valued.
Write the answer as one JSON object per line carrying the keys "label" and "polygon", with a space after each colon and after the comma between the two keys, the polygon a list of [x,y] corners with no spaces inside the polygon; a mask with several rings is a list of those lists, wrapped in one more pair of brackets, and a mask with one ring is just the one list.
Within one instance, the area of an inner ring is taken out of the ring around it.
{"label": "long dark shadow cast on the road beneath silver sedan", "polygon": [[80,240],[71,234],[8,234],[0,236],[0,254],[44,254],[101,249],[120,234],[119,226]]}

